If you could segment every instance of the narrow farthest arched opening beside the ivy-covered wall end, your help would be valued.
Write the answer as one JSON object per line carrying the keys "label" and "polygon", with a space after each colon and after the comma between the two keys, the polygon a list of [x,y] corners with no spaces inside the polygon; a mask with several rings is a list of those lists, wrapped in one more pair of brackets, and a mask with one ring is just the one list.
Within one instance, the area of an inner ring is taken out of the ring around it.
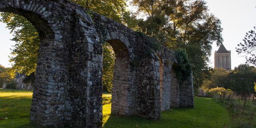
{"label": "narrow farthest arched opening beside the ivy-covered wall end", "polygon": [[176,77],[176,66],[178,66],[176,63],[172,64],[171,68],[171,87],[170,87],[170,107],[172,108],[178,108],[179,101],[180,101],[180,90],[179,90],[179,82],[178,78]]}

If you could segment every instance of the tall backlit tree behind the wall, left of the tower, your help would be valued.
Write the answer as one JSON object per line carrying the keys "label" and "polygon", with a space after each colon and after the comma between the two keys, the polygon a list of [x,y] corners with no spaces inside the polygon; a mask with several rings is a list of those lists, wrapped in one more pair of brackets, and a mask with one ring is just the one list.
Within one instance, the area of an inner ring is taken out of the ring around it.
{"label": "tall backlit tree behind the wall, left of the tower", "polygon": [[221,22],[208,13],[204,0],[133,0],[140,19],[138,26],[155,35],[167,48],[186,49],[191,58],[194,86],[201,86],[208,70],[212,43],[223,42]]}

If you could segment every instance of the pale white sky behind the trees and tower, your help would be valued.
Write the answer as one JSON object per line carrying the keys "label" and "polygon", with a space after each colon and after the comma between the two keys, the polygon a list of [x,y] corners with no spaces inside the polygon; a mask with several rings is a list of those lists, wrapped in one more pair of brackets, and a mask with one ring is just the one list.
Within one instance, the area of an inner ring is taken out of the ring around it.
{"label": "pale white sky behind the trees and tower", "polygon": [[[214,14],[222,22],[223,44],[227,50],[231,50],[231,65],[232,69],[234,69],[235,66],[243,64],[246,61],[244,57],[238,56],[235,48],[238,43],[242,42],[246,32],[256,26],[256,0],[205,1],[207,2],[209,13]],[[134,10],[136,8],[129,5],[129,9]],[[6,24],[0,22],[0,64],[10,67],[8,56],[10,56],[10,48],[12,48],[15,42],[10,41],[12,34],[5,27]],[[209,66],[214,67],[214,51],[216,50],[218,50],[218,47],[216,44],[213,44]]]}

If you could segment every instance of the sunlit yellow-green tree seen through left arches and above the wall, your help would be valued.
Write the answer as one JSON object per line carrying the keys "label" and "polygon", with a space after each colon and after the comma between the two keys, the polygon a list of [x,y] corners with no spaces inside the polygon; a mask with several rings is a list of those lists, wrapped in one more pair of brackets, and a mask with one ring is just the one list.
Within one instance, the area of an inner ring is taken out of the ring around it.
{"label": "sunlit yellow-green tree seen through left arches and above the wall", "polygon": [[[104,16],[112,18],[118,22],[126,24],[130,28],[134,28],[136,20],[131,12],[126,10],[125,0],[71,0],[84,6],[94,12],[98,12]],[[16,72],[21,74],[30,75],[36,71],[36,64],[38,60],[38,50],[40,46],[40,39],[38,32],[34,26],[26,20],[26,18],[12,14],[1,13],[1,22],[7,24],[7,28],[11,30],[16,42],[10,56],[10,62],[12,62],[12,68],[10,72],[12,77]],[[110,90],[112,87],[112,76],[114,70],[114,56],[113,52],[109,49],[109,44],[103,46],[103,56],[108,59],[104,59],[103,73],[103,85]],[[112,58],[110,58],[112,57]],[[32,77],[34,78],[34,77]],[[109,89],[110,88],[110,89]]]}

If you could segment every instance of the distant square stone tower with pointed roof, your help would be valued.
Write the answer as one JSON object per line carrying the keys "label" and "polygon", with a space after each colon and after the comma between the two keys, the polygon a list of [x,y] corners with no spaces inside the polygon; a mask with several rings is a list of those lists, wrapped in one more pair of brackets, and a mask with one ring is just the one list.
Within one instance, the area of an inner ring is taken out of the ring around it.
{"label": "distant square stone tower with pointed roof", "polygon": [[223,44],[214,53],[214,68],[225,68],[231,70],[231,51],[226,50]]}

